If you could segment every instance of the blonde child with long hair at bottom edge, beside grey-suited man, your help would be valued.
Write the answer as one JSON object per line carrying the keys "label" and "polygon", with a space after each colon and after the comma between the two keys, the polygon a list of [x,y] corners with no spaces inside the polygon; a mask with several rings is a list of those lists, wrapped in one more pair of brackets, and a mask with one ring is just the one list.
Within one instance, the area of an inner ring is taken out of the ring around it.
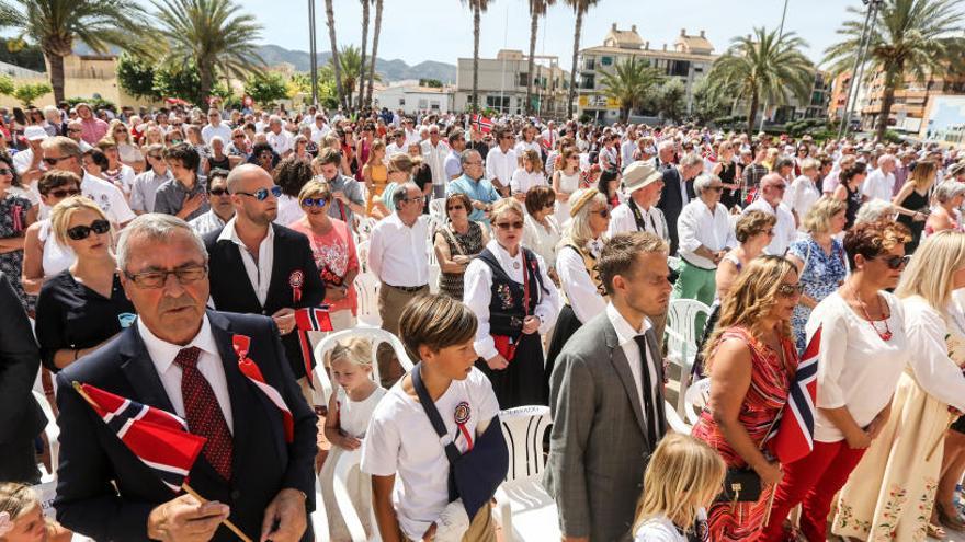
{"label": "blonde child with long hair at bottom edge, beside grey-suited man", "polygon": [[634,542],[708,540],[706,507],[720,492],[727,466],[704,442],[668,434],[650,457],[634,519]]}

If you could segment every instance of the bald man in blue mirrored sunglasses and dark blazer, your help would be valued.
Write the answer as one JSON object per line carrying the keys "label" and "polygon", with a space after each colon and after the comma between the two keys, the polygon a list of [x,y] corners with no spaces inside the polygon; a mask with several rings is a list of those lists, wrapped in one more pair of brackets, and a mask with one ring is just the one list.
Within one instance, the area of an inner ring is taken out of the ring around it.
{"label": "bald man in blue mirrored sunglasses and dark blazer", "polygon": [[242,164],[228,174],[235,217],[204,237],[211,256],[211,296],[219,311],[272,316],[306,399],[306,367],[295,332],[295,309],[319,307],[325,282],[308,238],[273,222],[281,188],[257,165]]}

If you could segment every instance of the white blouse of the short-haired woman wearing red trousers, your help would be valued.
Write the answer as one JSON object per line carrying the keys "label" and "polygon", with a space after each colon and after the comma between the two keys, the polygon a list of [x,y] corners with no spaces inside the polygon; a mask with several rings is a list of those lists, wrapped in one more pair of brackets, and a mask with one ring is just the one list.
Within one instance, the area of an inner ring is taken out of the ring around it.
{"label": "white blouse of the short-haired woman wearing red trousers", "polygon": [[[819,442],[844,439],[820,408],[845,406],[854,422],[866,427],[892,402],[910,360],[902,304],[892,293],[879,293],[888,303],[887,327],[856,314],[837,291],[818,303],[807,321],[808,337],[821,330],[814,436]],[[889,341],[878,335],[885,330],[892,332]]]}

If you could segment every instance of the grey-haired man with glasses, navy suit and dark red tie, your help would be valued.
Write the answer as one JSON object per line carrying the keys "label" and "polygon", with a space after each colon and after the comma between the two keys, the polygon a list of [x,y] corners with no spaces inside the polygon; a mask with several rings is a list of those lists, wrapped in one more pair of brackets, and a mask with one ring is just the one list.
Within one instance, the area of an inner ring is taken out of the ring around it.
{"label": "grey-haired man with glasses, navy suit and dark red tie", "polygon": [[[117,266],[137,322],[58,376],[57,520],[94,540],[313,540],[317,418],[285,359],[274,321],[205,310],[204,244],[181,219],[141,215],[122,232]],[[235,335],[294,418],[239,369]],[[209,499],[177,496],[71,388],[81,382],[177,414],[207,440],[190,472]]]}

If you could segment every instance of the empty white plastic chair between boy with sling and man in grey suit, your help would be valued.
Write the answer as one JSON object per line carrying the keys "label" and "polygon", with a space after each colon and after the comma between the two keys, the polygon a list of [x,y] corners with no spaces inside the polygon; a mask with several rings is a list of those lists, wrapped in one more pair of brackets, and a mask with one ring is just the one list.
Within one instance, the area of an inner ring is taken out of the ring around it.
{"label": "empty white plastic chair between boy with sling and man in grey suit", "polygon": [[519,406],[499,413],[510,453],[509,472],[496,489],[493,515],[506,542],[559,540],[556,503],[540,480],[546,461],[543,437],[552,423],[548,406]]}

